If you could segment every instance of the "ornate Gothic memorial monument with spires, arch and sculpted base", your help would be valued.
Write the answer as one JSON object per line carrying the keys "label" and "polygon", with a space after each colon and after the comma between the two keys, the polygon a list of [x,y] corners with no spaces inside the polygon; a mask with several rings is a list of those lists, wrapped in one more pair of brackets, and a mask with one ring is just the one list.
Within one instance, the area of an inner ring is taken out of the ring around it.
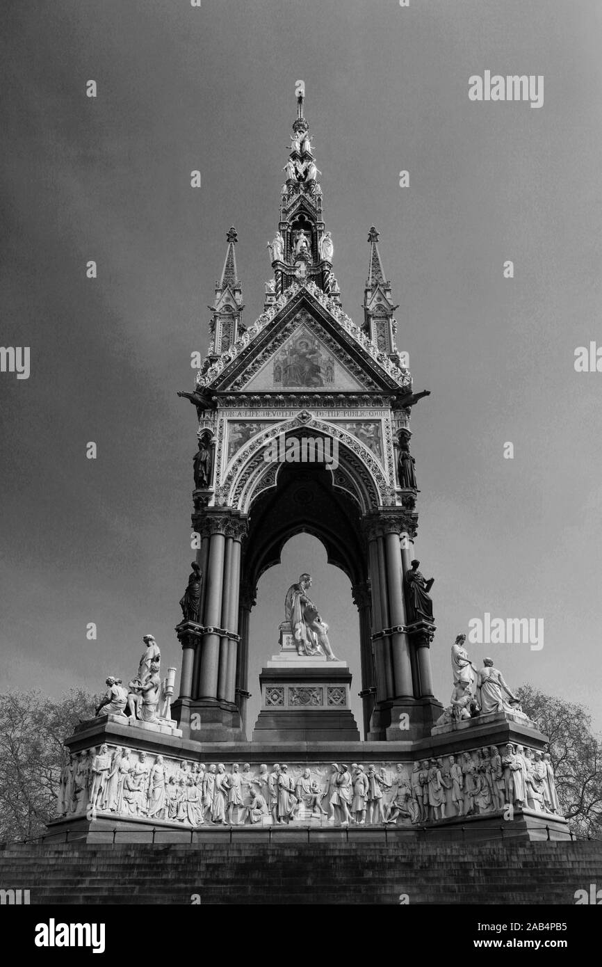
{"label": "ornate Gothic memorial monument with spires, arch and sculpted base", "polygon": [[[285,171],[264,310],[244,321],[231,228],[209,352],[193,390],[180,394],[197,417],[199,549],[176,627],[178,697],[172,705],[176,669],[161,677],[152,634],[129,679],[106,669],[97,717],[67,742],[71,763],[49,829],[85,838],[160,828],[189,841],[194,831],[223,826],[373,825],[411,835],[428,825],[454,838],[471,824],[495,837],[509,808],[508,835],[547,829],[564,837],[546,737],[520,709],[497,659],[477,670],[459,634],[448,705],[433,694],[437,604],[434,578],[413,552],[410,454],[412,408],[428,392],[414,392],[397,348],[374,227],[363,317],[354,322],[343,311],[301,81]],[[313,459],[302,457],[308,441]],[[301,462],[270,455],[291,447]],[[358,633],[342,641],[330,628],[311,562],[298,579],[286,575],[278,650],[260,675],[261,711],[247,741],[256,688],[248,657],[264,645],[249,635],[257,582],[301,531],[348,576]],[[447,647],[435,649],[435,660],[448,660]],[[360,657],[362,739],[350,703],[352,650]]]}

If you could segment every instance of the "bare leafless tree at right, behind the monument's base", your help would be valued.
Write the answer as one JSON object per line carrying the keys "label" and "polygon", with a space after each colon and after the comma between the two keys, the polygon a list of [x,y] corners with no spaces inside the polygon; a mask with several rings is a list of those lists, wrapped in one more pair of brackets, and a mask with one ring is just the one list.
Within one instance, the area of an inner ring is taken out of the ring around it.
{"label": "bare leafless tree at right, behind the monument's base", "polygon": [[602,743],[591,731],[588,710],[530,685],[518,689],[518,698],[550,740],[559,803],[571,828],[602,836]]}

